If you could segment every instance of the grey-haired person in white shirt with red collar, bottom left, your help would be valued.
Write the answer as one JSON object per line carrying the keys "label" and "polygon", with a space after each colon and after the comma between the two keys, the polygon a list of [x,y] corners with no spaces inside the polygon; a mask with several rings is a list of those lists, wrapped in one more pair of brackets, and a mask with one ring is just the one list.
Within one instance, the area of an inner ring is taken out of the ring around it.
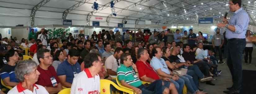
{"label": "grey-haired person in white shirt with red collar, bottom left", "polygon": [[49,94],[43,86],[35,84],[40,75],[37,71],[36,62],[32,60],[21,61],[15,68],[15,74],[20,83],[7,94],[31,94],[34,92],[36,92],[36,94]]}

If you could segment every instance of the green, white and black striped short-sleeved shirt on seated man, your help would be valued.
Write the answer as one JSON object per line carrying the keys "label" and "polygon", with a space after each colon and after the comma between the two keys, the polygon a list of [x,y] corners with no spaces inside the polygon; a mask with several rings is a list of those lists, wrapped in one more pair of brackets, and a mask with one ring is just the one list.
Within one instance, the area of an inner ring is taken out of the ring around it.
{"label": "green, white and black striped short-sleeved shirt on seated man", "polygon": [[124,80],[125,83],[130,84],[134,87],[141,86],[141,80],[135,76],[136,73],[133,71],[132,67],[126,67],[124,64],[121,64],[117,68],[117,79]]}

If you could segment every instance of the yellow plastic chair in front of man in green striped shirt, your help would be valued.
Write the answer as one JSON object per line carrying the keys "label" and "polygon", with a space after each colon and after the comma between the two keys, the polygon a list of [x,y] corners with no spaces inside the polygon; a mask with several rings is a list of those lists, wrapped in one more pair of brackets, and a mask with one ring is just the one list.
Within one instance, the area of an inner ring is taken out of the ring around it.
{"label": "yellow plastic chair in front of man in green striped shirt", "polygon": [[126,93],[129,93],[129,94],[134,94],[134,92],[132,90],[121,88],[118,85],[116,85],[114,82],[112,82],[110,80],[106,80],[106,79],[101,79],[100,80],[101,94],[110,94],[110,92],[111,92],[110,91],[110,84],[113,85],[119,91],[126,92]]}

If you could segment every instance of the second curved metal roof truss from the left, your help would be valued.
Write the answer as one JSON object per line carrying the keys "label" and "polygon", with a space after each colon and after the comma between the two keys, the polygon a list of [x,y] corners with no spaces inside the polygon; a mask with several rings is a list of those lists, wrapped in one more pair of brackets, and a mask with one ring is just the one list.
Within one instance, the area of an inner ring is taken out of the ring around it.
{"label": "second curved metal roof truss from the left", "polygon": [[90,0],[82,0],[71,6],[70,8],[66,9],[62,14],[62,19],[66,19],[67,15],[74,9],[76,9],[79,6],[82,6],[83,4],[89,2]]}

